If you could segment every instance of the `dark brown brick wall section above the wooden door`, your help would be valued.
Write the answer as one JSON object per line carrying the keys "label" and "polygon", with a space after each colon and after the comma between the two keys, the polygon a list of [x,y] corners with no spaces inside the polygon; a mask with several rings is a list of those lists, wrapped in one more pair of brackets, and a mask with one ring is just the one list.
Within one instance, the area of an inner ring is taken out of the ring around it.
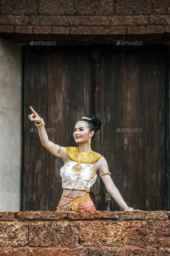
{"label": "dark brown brick wall section above the wooden door", "polygon": [[23,44],[41,39],[67,45],[113,44],[118,40],[169,42],[170,2],[3,0],[0,37]]}

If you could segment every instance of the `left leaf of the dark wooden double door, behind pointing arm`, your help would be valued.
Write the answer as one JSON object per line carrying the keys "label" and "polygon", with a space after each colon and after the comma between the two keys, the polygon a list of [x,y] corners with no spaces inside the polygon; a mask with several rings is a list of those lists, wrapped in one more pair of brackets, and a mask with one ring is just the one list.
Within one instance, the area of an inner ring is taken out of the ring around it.
{"label": "left leaf of the dark wooden double door, behind pointing arm", "polygon": [[30,132],[29,106],[43,117],[49,140],[76,146],[75,123],[91,108],[90,59],[87,48],[25,48],[23,210],[55,211],[62,193],[63,162],[42,147],[38,132]]}

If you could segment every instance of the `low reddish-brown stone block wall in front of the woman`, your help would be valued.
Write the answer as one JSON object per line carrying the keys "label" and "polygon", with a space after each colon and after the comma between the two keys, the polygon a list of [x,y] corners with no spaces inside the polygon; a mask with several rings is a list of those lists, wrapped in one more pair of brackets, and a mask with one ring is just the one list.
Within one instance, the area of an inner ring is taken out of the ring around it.
{"label": "low reddish-brown stone block wall in front of the woman", "polygon": [[0,212],[0,255],[170,255],[170,212]]}

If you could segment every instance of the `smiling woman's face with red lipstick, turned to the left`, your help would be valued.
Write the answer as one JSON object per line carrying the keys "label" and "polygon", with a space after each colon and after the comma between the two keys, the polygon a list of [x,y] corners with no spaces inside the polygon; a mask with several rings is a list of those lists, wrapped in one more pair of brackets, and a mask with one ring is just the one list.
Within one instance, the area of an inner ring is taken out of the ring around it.
{"label": "smiling woman's face with red lipstick, turned to the left", "polygon": [[73,133],[76,143],[88,141],[89,137],[92,137],[92,134],[94,134],[94,131],[89,132],[89,128],[86,126],[86,122],[79,121],[76,123]]}

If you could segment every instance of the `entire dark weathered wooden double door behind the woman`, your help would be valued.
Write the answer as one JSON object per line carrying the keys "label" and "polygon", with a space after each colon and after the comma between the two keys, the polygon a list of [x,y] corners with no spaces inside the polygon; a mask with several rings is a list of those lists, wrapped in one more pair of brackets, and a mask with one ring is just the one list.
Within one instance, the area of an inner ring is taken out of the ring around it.
{"label": "entire dark weathered wooden double door behind the woman", "polygon": [[[28,119],[30,105],[46,122],[49,140],[62,146],[76,146],[75,123],[96,114],[102,125],[92,149],[105,156],[126,203],[167,210],[166,51],[153,46],[24,47],[22,210],[55,211],[62,193],[63,162],[42,147]],[[122,210],[99,174],[90,196],[97,210]]]}

